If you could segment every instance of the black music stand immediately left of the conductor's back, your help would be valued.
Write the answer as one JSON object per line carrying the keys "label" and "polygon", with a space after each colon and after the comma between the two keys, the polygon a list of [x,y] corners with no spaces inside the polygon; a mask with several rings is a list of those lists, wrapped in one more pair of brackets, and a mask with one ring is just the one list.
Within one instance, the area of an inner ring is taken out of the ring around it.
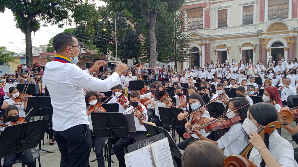
{"label": "black music stand immediately left of the conductor's back", "polygon": [[[28,116],[39,116],[39,119],[41,119],[41,116],[53,115],[51,97],[49,96],[29,97],[26,112],[30,111],[30,108],[33,108],[33,110],[28,114]],[[41,141],[39,142],[38,151],[40,150],[48,153],[54,153],[46,149],[42,149]]]}

